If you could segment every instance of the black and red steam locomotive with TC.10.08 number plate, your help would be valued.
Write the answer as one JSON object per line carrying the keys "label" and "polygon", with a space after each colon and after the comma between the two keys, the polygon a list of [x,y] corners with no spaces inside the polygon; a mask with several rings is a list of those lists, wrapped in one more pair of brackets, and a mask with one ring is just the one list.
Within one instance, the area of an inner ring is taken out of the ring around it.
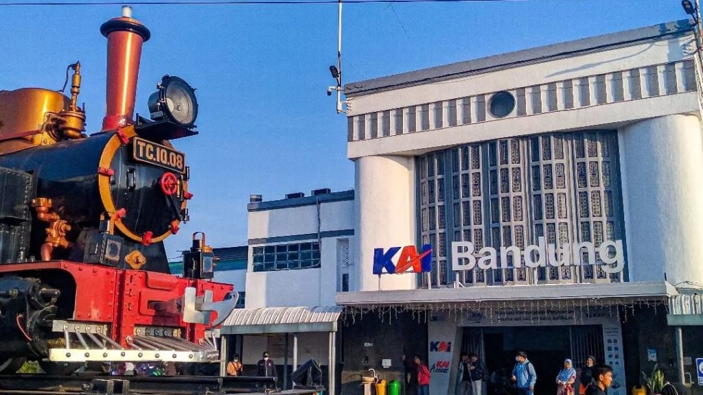
{"label": "black and red steam locomotive with TC.10.08 number plate", "polygon": [[0,91],[0,373],[27,359],[55,374],[86,361],[216,361],[209,329],[236,304],[232,285],[212,281],[204,234],[193,235],[183,277],[169,273],[163,245],[193,197],[186,157],[169,141],[198,134],[194,89],[167,75],[150,119],[133,119],[150,31],[125,6],[101,33],[97,133],[84,133],[80,63],[67,68],[70,97]]}

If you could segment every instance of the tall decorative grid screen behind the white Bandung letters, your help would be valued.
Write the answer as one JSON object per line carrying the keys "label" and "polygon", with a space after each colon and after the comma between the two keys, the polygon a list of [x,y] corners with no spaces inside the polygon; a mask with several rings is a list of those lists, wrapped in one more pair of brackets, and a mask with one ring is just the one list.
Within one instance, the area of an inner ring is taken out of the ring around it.
{"label": "tall decorative grid screen behind the white Bandung letters", "polygon": [[[455,280],[451,242],[482,247],[623,240],[615,131],[579,131],[460,145],[418,157],[418,244],[431,244],[432,285]],[[609,283],[602,266],[547,266],[458,273],[464,285]],[[524,258],[522,258],[524,259]],[[597,258],[598,259],[598,258]],[[601,262],[595,262],[601,263]],[[427,276],[422,276],[427,285]]]}

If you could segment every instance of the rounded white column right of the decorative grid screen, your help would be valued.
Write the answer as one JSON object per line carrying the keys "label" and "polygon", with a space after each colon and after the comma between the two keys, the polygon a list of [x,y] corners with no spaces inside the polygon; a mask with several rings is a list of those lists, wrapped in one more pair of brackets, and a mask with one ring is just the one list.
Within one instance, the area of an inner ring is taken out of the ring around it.
{"label": "rounded white column right of the decorative grid screen", "polygon": [[703,283],[699,119],[669,115],[618,133],[631,281]]}

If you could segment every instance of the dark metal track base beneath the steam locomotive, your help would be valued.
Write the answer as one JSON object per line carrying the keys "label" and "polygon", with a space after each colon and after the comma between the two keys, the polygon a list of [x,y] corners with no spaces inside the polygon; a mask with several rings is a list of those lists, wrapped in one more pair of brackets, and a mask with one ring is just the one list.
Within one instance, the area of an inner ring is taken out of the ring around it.
{"label": "dark metal track base beneath the steam locomotive", "polygon": [[273,377],[0,375],[0,394],[23,395],[317,395],[319,390],[276,390]]}

